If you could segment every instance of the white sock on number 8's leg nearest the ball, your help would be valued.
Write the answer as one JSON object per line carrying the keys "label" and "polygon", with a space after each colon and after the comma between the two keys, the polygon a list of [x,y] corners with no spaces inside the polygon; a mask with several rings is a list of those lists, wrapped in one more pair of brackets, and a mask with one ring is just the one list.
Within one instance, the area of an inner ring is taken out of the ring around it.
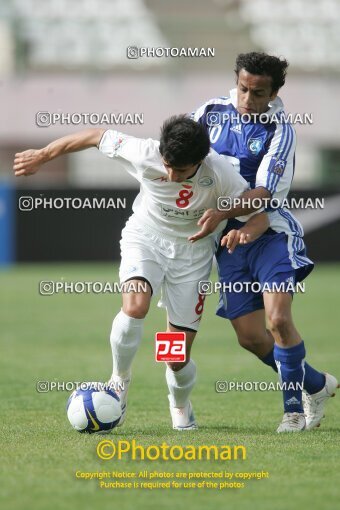
{"label": "white sock on number 8's leg nearest the ball", "polygon": [[129,379],[133,358],[143,332],[144,319],[129,317],[121,310],[113,320],[110,335],[112,348],[112,377]]}

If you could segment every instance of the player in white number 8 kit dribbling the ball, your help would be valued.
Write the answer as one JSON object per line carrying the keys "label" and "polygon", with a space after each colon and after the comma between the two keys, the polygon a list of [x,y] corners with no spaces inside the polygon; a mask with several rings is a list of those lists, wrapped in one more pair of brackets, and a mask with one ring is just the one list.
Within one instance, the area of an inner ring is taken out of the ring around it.
{"label": "player in white number 8 kit dribbling the ball", "polygon": [[[120,425],[125,419],[131,365],[142,338],[144,318],[152,294],[161,289],[160,304],[167,310],[168,330],[186,332],[186,362],[168,363],[166,369],[173,428],[195,429],[189,396],[196,379],[190,351],[204,305],[198,283],[209,278],[215,238],[226,222],[195,244],[188,238],[197,232],[197,220],[204,212],[216,208],[219,196],[238,197],[248,184],[228,157],[210,150],[205,128],[185,116],[171,117],[164,123],[160,142],[102,129],[60,138],[41,150],[16,154],[15,174],[31,175],[57,156],[93,146],[119,161],[140,183],[133,214],[122,231],[119,269],[121,283],[129,282],[134,290],[123,291],[123,306],[113,320],[110,336],[110,382],[124,388],[120,392]],[[232,237],[225,236],[222,243],[232,249],[231,244],[252,241],[268,228],[265,213],[240,221],[248,219],[237,231],[236,241],[235,232],[231,232],[228,236]],[[146,289],[139,292],[141,280]]]}

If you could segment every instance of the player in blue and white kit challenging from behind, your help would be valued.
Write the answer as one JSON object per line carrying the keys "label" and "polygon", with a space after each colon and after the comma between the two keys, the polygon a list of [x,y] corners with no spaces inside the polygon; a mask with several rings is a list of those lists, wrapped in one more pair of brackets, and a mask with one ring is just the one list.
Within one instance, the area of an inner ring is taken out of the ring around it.
{"label": "player in blue and white kit challenging from behind", "polygon": [[[277,95],[285,83],[287,67],[286,60],[264,53],[240,54],[235,69],[237,88],[230,91],[229,97],[212,99],[193,114],[208,128],[212,147],[239,162],[240,173],[251,187],[244,198],[250,201],[282,200],[293,179],[295,132],[285,122],[283,103]],[[228,212],[207,211],[199,221],[202,230],[192,241],[201,239],[221,219],[255,210],[246,204],[244,200],[243,206]],[[239,246],[232,254],[217,250],[222,282],[298,282],[313,269],[300,223],[286,208],[269,207],[267,211],[270,231],[266,235]],[[225,232],[240,225],[237,220],[229,220]],[[291,304],[290,292],[244,290],[222,293],[217,311],[231,320],[242,347],[279,371],[288,388],[294,387],[283,391],[284,416],[278,432],[319,426],[325,403],[338,387],[335,377],[318,372],[304,361],[305,346],[293,323]],[[302,384],[303,392],[299,389]]]}

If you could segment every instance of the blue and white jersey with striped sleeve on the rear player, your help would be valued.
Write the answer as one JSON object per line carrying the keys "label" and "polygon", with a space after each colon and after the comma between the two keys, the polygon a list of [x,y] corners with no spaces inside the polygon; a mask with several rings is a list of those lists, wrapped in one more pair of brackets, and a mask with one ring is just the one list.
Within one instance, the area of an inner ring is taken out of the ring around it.
{"label": "blue and white jersey with striped sleeve on the rear player", "polygon": [[[287,197],[294,176],[296,135],[292,125],[285,122],[279,97],[254,120],[238,113],[237,91],[233,89],[230,97],[207,101],[192,113],[192,118],[206,126],[216,152],[239,162],[240,173],[251,188],[264,187],[275,199]],[[267,212],[271,228],[289,236],[290,254],[299,267],[305,262],[298,255],[304,249],[301,224],[287,208]]]}

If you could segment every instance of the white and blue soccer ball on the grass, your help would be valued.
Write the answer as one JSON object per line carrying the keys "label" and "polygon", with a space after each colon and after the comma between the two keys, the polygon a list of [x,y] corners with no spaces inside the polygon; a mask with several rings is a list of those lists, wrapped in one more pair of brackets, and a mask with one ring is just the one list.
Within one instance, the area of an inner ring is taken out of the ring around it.
{"label": "white and blue soccer ball on the grass", "polygon": [[67,417],[78,432],[108,433],[118,425],[121,415],[118,395],[100,383],[83,383],[67,402]]}

